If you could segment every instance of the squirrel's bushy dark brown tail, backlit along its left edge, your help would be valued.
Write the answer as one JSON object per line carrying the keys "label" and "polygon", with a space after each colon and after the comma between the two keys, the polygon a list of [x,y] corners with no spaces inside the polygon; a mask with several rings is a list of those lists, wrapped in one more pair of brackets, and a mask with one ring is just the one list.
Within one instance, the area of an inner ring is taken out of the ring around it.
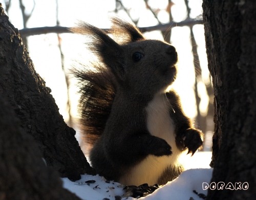
{"label": "squirrel's bushy dark brown tail, backlit along its left edge", "polygon": [[[86,141],[94,144],[104,131],[115,97],[114,75],[101,65],[73,70],[79,85],[79,114]],[[89,69],[89,70],[88,70]]]}

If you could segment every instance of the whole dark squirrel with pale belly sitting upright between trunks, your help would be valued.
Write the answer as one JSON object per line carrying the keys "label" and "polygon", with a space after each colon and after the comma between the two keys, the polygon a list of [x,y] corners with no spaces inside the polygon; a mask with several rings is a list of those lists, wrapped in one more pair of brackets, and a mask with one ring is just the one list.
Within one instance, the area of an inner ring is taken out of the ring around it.
{"label": "whole dark squirrel with pale belly sitting upright between trunks", "polygon": [[[176,79],[175,47],[146,39],[139,29],[113,17],[108,33],[80,22],[99,59],[73,73],[78,79],[84,140],[93,147],[96,172],[123,185],[163,185],[183,170],[178,158],[202,145],[202,131],[185,116],[180,98],[167,87]],[[121,38],[121,40],[120,40]]]}

